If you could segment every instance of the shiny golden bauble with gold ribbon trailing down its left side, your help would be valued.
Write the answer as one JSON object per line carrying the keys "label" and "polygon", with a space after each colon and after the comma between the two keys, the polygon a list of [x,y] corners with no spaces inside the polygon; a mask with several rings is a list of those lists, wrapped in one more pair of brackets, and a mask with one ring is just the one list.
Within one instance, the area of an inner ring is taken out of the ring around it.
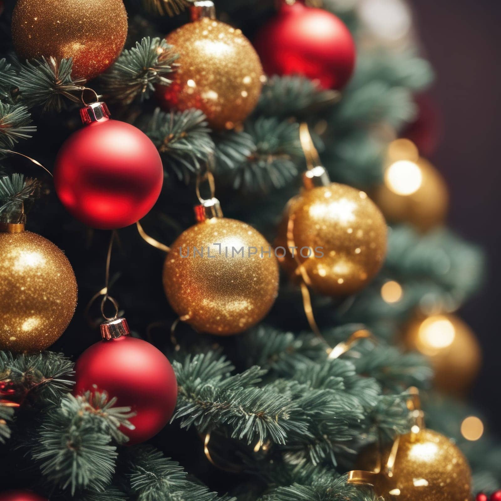
{"label": "shiny golden bauble with gold ribbon trailing down its left side", "polygon": [[[277,252],[279,246],[289,247],[289,218],[294,246],[298,247],[296,256],[317,292],[328,296],[353,294],[380,270],[386,254],[387,227],[381,211],[365,192],[338,183],[305,189],[286,208],[275,241]],[[297,268],[290,254],[283,259],[277,255],[289,273]]]}

